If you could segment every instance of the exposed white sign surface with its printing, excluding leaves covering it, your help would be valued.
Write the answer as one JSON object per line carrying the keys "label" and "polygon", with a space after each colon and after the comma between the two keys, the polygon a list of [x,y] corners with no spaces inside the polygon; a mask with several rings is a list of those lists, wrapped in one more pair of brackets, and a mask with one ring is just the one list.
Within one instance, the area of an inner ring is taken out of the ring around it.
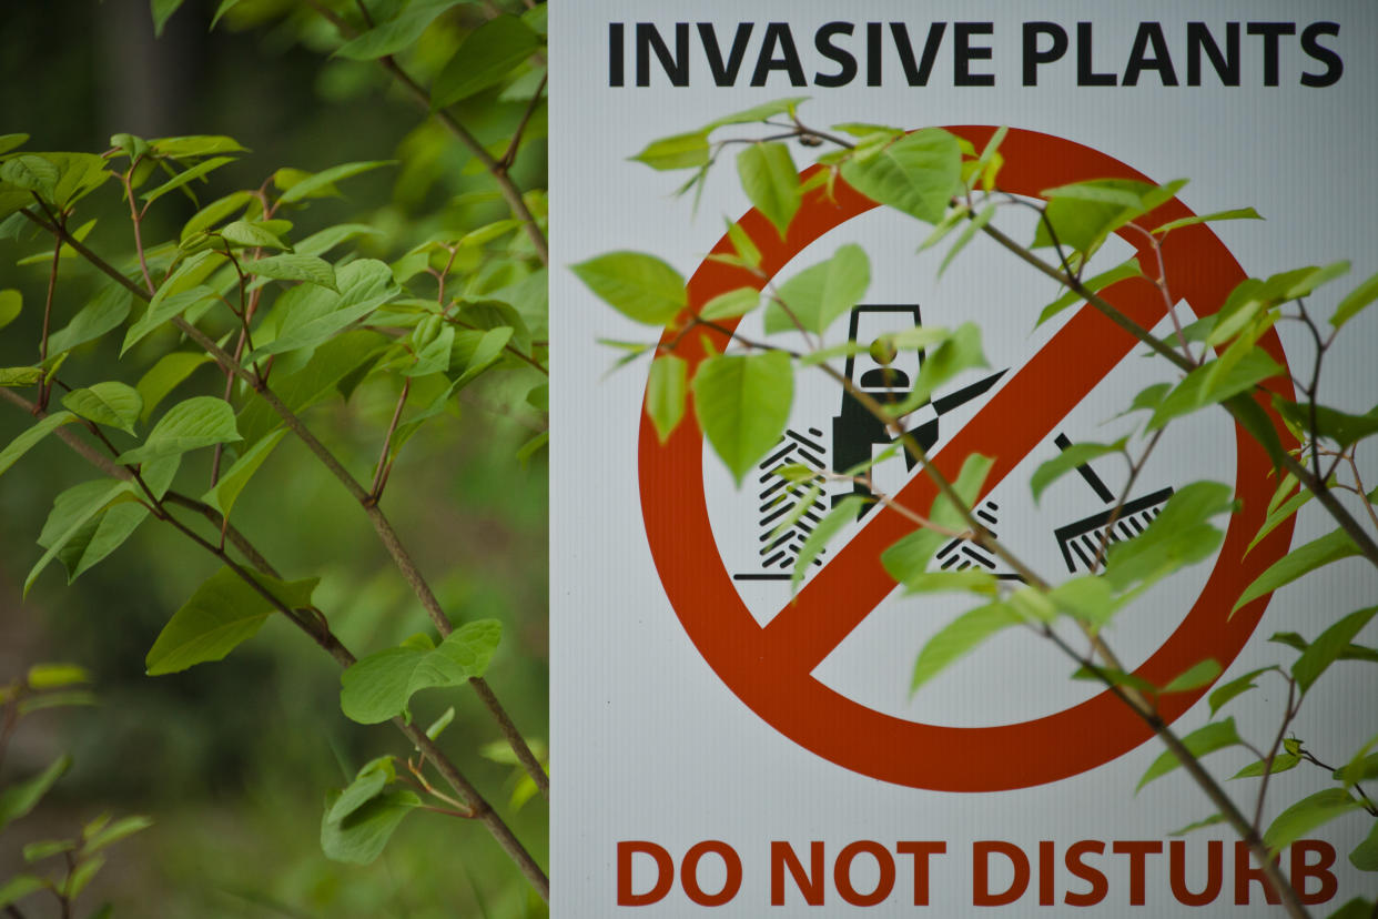
{"label": "exposed white sign surface with its printing, excluding leaves covering it", "polygon": [[[994,457],[974,510],[1050,581],[1086,575],[1102,540],[1135,537],[1188,484],[1235,489],[1240,508],[1217,519],[1222,546],[1116,615],[1107,638],[1126,670],[1162,686],[1214,659],[1224,670],[1217,688],[1272,664],[1286,670],[1297,652],[1269,637],[1315,639],[1371,605],[1378,577],[1367,562],[1346,561],[1229,615],[1258,573],[1334,522],[1308,504],[1294,528],[1246,553],[1277,478],[1222,411],[1169,426],[1133,479],[1120,457],[1105,456],[1040,500],[1031,496],[1032,473],[1071,444],[1141,427],[1142,413],[1120,413],[1135,393],[1180,379],[1171,366],[1145,360],[1142,344],[1080,303],[1035,328],[1061,291],[984,236],[940,277],[952,236],[916,254],[930,226],[874,207],[845,183],[832,197],[824,187],[808,194],[781,237],[741,190],[740,146],[721,147],[701,189],[683,197],[674,192],[692,171],[655,171],[630,157],[657,138],[790,96],[808,96],[798,118],[824,135],[845,135],[834,127],[845,123],[938,127],[980,152],[1006,127],[998,185],[1010,200],[1035,201],[1087,179],[1191,178],[1169,205],[1173,215],[1254,207],[1266,218],[1164,237],[1173,314],[1141,278],[1108,289],[1156,335],[1171,338],[1214,314],[1246,277],[1348,259],[1350,274],[1306,300],[1324,325],[1339,299],[1378,270],[1367,179],[1378,139],[1378,7],[553,7],[553,915],[1279,909],[1228,827],[1170,835],[1213,806],[1184,770],[1135,794],[1162,743],[1104,685],[1069,679],[1075,664],[1053,642],[1006,630],[911,692],[926,641],[974,605],[963,594],[905,595],[886,575],[881,553],[914,529],[911,521],[863,513],[792,583],[808,535],[847,495],[875,489],[907,507],[933,503],[932,481],[890,456],[870,488],[834,481],[780,529],[787,484],[773,470],[842,470],[892,448],[893,435],[856,398],[801,369],[784,434],[739,484],[704,442],[692,408],[660,444],[644,412],[649,357],[612,369],[624,351],[599,340],[652,343],[664,329],[602,303],[570,266],[613,251],[655,255],[689,280],[697,309],[747,282],[741,269],[708,258],[736,251],[723,220],[759,248],[774,284],[858,245],[870,263],[865,296],[827,329],[825,343],[865,344],[918,324],[981,329],[989,366],[944,383],[905,426],[949,477],[969,453]],[[788,116],[776,120],[784,124],[777,132],[791,134]],[[769,131],[729,125],[712,141]],[[821,139],[791,139],[795,164],[827,152],[831,138]],[[1038,214],[1007,207],[995,223],[1027,244]],[[1111,238],[1087,277],[1152,252],[1145,247],[1129,231]],[[763,317],[755,310],[740,325],[725,320],[736,347],[768,338]],[[703,331],[671,331],[663,343],[693,368],[704,357]],[[722,331],[712,347],[726,344]],[[1378,314],[1366,313],[1337,338],[1322,402],[1355,413],[1372,408],[1375,333]],[[794,351],[814,344],[798,332],[769,340]],[[1305,325],[1279,324],[1261,343],[1309,382],[1315,344]],[[915,347],[883,366],[865,351],[831,365],[863,391],[903,395],[923,360]],[[1360,448],[1357,460],[1360,479],[1378,485],[1372,455]],[[1361,503],[1346,506],[1368,525]],[[932,565],[1017,583],[1009,565],[967,540],[941,546]],[[1375,628],[1356,641],[1375,643]],[[1071,623],[1057,632],[1083,650]],[[1232,716],[1242,739],[1266,750],[1287,683],[1273,672],[1258,683],[1214,721]],[[1162,696],[1178,734],[1213,721],[1209,692]],[[1378,667],[1339,661],[1288,733],[1316,759],[1342,766],[1378,729],[1375,699]],[[1258,758],[1235,745],[1204,762],[1228,778]],[[1224,784],[1251,818],[1259,778]],[[1339,785],[1310,762],[1272,776],[1262,827],[1327,787]],[[1375,875],[1348,861],[1372,825],[1355,810],[1282,853],[1283,872],[1316,915],[1378,891]]]}

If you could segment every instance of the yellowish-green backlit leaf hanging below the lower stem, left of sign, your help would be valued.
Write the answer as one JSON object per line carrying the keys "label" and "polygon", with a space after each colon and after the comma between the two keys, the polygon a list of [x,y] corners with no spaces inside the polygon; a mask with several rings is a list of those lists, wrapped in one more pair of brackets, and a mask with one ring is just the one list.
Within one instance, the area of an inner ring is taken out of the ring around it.
{"label": "yellowish-green backlit leaf hanging below the lower stem, left of sign", "polygon": [[[305,609],[318,577],[281,581],[249,572],[265,591],[288,609]],[[211,575],[158,632],[145,664],[149,677],[175,674],[212,660],[222,660],[252,638],[274,605],[230,568]]]}

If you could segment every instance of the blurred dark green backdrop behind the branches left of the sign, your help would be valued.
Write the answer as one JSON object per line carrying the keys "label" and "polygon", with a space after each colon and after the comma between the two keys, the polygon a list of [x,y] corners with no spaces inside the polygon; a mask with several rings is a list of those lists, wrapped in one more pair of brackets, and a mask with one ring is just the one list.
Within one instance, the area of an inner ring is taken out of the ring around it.
{"label": "blurred dark green backdrop behind the branches left of the sign", "polygon": [[[384,236],[365,254],[383,259],[431,231],[504,216],[488,178],[376,63],[328,56],[338,37],[318,15],[299,4],[245,0],[211,30],[215,6],[190,0],[154,39],[146,0],[6,4],[0,134],[30,134],[30,150],[84,152],[105,150],[117,131],[232,135],[252,154],[215,174],[203,203],[256,187],[282,165],[318,171],[394,158],[398,165],[343,186],[346,198],[306,212],[296,230],[300,237],[346,219],[368,222]],[[463,6],[446,12],[409,66],[427,76],[481,14]],[[496,96],[457,109],[485,142],[510,132],[525,107]],[[535,125],[535,142],[518,158],[522,187],[544,186],[542,134]],[[149,238],[174,236],[194,212],[174,197],[153,209]],[[88,209],[87,216],[102,215],[92,248],[128,256],[132,240],[116,183]],[[18,288],[25,299],[23,316],[0,331],[0,366],[36,358],[47,265],[15,262],[45,251],[50,242],[39,237],[0,241],[0,288]],[[55,325],[92,288],[90,270],[63,267]],[[117,364],[116,353],[117,340],[85,346],[72,361],[80,361],[77,379],[132,383],[156,358],[136,350]],[[215,376],[204,366],[179,391],[212,391]],[[547,732],[546,467],[543,453],[529,463],[515,453],[543,419],[503,408],[532,380],[493,376],[466,391],[452,417],[408,444],[383,507],[456,623],[502,620],[504,641],[489,682],[539,740]],[[307,422],[356,477],[367,477],[394,398],[395,390],[362,386],[347,405],[335,400],[311,409]],[[29,423],[0,404],[0,442]],[[182,475],[208,482],[208,462],[189,457]],[[427,627],[364,515],[305,448],[285,441],[265,471],[270,475],[255,479],[236,522],[287,577],[324,576],[316,599],[347,646],[362,654]],[[0,882],[22,867],[23,843],[72,835],[110,810],[149,814],[156,825],[107,850],[109,864],[77,915],[103,901],[116,916],[544,915],[496,843],[467,821],[416,813],[365,868],[321,856],[324,792],[376,755],[408,751],[391,727],[344,719],[338,668],[284,621],[270,619],[220,664],[143,674],[158,630],[216,568],[169,528],[146,522],[70,587],[54,565],[22,599],[54,495],[95,477],[50,438],[0,478],[0,683],[33,663],[62,660],[88,668],[99,696],[96,707],[33,714],[15,733],[0,783],[37,772],[63,750],[74,766],[36,812],[0,831]],[[418,701],[422,725],[455,705],[442,745],[546,864],[544,802],[510,806],[515,777],[480,755],[499,734],[474,694],[430,690]],[[25,915],[55,916],[56,904],[34,896]]]}

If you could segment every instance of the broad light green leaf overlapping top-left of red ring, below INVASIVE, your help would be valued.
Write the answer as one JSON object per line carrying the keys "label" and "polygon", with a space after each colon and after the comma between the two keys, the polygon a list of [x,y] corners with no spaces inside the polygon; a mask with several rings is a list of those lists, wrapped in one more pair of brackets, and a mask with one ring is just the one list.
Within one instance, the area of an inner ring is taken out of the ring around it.
{"label": "broad light green leaf overlapping top-left of red ring, below INVASIVE", "polygon": [[872,201],[937,223],[962,189],[962,149],[947,131],[922,128],[872,156],[853,156],[842,178]]}

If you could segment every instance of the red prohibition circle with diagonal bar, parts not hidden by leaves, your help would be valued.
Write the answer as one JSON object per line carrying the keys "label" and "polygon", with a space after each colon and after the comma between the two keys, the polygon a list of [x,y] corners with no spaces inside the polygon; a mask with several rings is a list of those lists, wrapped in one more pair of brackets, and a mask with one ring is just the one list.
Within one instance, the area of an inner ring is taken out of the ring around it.
{"label": "red prohibition circle with diagonal bar, parts not hidden by leaves", "polygon": [[[977,149],[994,134],[991,127],[952,127]],[[1151,182],[1104,153],[1035,131],[1011,130],[1000,146],[1006,192],[1038,197],[1043,189],[1087,179],[1122,178]],[[739,226],[762,254],[763,273],[774,276],[806,245],[828,230],[876,207],[874,201],[836,182],[830,198],[817,189],[806,196],[788,234],[780,240],[757,211]],[[1175,198],[1145,218],[1148,226],[1191,216]],[[1144,255],[1144,240],[1122,237]],[[733,252],[723,236],[715,254]],[[1173,230],[1163,241],[1170,289],[1199,314],[1220,309],[1244,271],[1206,225]],[[1151,259],[1142,259],[1146,267]],[[689,310],[740,287],[763,287],[765,280],[743,269],[706,259],[690,278]],[[1146,280],[1130,278],[1104,292],[1140,325],[1152,328],[1166,307]],[[667,329],[663,343],[674,338]],[[722,336],[714,346],[722,349]],[[949,477],[971,451],[996,456],[987,489],[996,484],[1137,342],[1090,306],[1083,306],[1054,339],[1016,378],[991,397],[985,408],[955,434],[933,462]],[[1259,344],[1286,366],[1276,333]],[[1094,346],[1094,347],[1089,347]],[[699,335],[686,335],[675,354],[689,361],[690,373],[706,355]],[[1073,379],[1075,376],[1075,379]],[[1084,378],[1084,379],[1082,379]],[[1090,384],[1086,386],[1086,380]],[[1287,375],[1269,389],[1293,398]],[[1038,400],[1020,400],[1036,387]],[[1047,408],[1038,408],[1034,404]],[[1064,406],[1061,409],[1056,406]],[[1049,417],[1051,416],[1051,420]],[[1191,613],[1163,646],[1135,672],[1164,685],[1203,657],[1222,668],[1239,654],[1266,608],[1259,598],[1229,616],[1235,598],[1291,544],[1291,521],[1275,529],[1251,553],[1250,539],[1262,525],[1272,466],[1265,452],[1236,428],[1236,495],[1243,507],[1229,521],[1215,568]],[[757,715],[806,750],[834,763],[875,778],[934,791],[999,791],[1057,781],[1100,766],[1152,737],[1152,730],[1109,692],[1053,715],[994,727],[945,727],[878,712],[852,701],[810,675],[810,671],[893,590],[879,554],[909,525],[898,514],[871,514],[842,555],[823,568],[766,626],[759,626],[743,603],[718,553],[703,493],[703,434],[692,417],[661,445],[642,413],[639,481],[646,539],[666,594],[690,641],[718,677]],[[927,507],[933,488],[916,475],[898,497],[909,507]],[[918,652],[918,649],[915,649]],[[1162,697],[1160,715],[1171,722],[1206,688]]]}

